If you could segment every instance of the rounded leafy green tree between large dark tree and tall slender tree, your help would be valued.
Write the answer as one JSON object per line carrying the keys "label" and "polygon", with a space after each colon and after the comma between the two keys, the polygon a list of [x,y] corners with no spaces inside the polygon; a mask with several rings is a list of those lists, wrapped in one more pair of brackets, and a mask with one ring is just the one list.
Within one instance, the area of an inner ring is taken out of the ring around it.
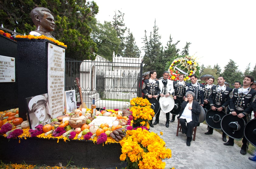
{"label": "rounded leafy green tree between large dark tree and tall slender tree", "polygon": [[117,37],[111,22],[105,21],[104,24],[101,24],[94,19],[90,22],[90,26],[93,29],[92,40],[98,48],[97,54],[112,61],[113,51],[117,53],[120,39]]}

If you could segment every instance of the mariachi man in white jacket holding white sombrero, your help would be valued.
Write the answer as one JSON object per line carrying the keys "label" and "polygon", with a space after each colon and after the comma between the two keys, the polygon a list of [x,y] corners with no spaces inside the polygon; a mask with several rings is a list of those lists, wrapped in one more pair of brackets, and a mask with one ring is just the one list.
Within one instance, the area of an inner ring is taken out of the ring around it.
{"label": "mariachi man in white jacket holding white sombrero", "polygon": [[[160,89],[160,96],[161,97],[168,97],[168,96],[172,96],[174,89],[173,89],[173,81],[168,79],[169,76],[169,72],[168,71],[164,71],[163,73],[163,79],[158,80],[159,82],[159,89]],[[160,98],[160,97],[159,97]],[[158,100],[159,100],[158,98]],[[159,112],[156,114],[156,120],[154,122],[153,125],[157,125],[159,123],[159,115],[160,115],[160,110]],[[169,122],[170,122],[170,112],[167,112],[166,114],[166,122],[165,122],[165,127],[169,127]]]}

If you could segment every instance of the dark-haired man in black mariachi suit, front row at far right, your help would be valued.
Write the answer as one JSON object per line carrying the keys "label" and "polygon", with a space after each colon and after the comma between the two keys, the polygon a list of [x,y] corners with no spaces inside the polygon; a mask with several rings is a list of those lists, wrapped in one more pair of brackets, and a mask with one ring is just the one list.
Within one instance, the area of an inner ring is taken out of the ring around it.
{"label": "dark-haired man in black mariachi suit, front row at far right", "polygon": [[[243,80],[243,87],[240,89],[234,89],[233,97],[230,100],[230,112],[232,115],[237,115],[239,118],[243,118],[245,122],[251,120],[251,112],[253,110],[251,104],[255,100],[256,91],[250,86],[254,81],[253,76],[246,75]],[[248,149],[248,141],[243,138],[243,145],[240,153],[245,155]],[[224,143],[224,145],[234,145],[234,138],[230,138]]]}

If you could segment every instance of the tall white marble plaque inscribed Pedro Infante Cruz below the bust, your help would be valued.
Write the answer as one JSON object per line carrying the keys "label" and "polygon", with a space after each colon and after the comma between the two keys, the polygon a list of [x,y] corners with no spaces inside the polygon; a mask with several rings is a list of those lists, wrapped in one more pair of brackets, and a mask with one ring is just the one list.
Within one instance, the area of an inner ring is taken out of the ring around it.
{"label": "tall white marble plaque inscribed Pedro Infante Cruz below the bust", "polygon": [[48,101],[52,118],[64,113],[65,49],[48,44]]}

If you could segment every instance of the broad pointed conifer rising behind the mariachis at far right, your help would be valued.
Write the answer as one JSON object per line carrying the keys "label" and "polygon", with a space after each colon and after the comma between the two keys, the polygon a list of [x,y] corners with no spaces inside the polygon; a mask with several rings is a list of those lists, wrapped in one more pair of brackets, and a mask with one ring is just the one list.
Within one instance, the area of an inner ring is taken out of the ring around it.
{"label": "broad pointed conifer rising behind the mariachis at far right", "polygon": [[235,81],[243,81],[243,73],[237,70],[238,66],[230,59],[228,64],[224,67],[224,71],[221,74],[230,85]]}

